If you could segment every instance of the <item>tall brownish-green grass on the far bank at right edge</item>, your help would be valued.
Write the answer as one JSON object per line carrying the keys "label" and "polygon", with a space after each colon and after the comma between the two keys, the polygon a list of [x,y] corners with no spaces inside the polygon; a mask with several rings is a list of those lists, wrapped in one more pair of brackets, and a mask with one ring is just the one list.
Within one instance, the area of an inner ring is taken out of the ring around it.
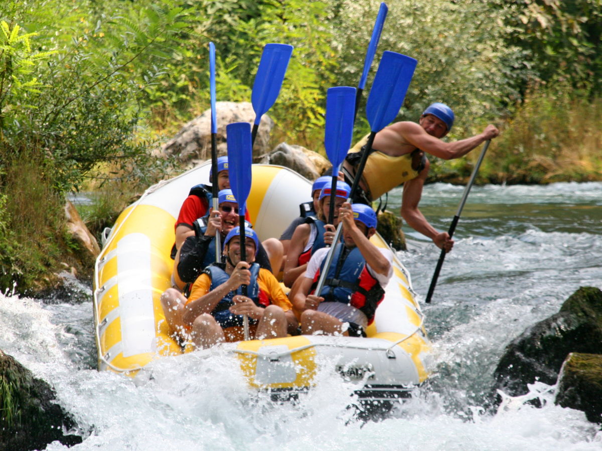
{"label": "tall brownish-green grass on the far bank at right edge", "polygon": [[598,179],[600,123],[602,99],[576,95],[568,81],[527,93],[493,142],[487,158],[491,168],[485,167],[485,173],[494,181],[514,183]]}

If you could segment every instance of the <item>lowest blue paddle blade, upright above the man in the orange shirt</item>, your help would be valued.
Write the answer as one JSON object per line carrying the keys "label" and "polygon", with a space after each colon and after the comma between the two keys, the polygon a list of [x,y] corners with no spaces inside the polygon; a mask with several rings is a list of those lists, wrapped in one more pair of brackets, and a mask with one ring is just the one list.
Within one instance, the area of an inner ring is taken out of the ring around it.
{"label": "lowest blue paddle blade, upright above the man in the orange shirt", "polygon": [[238,202],[238,213],[244,216],[247,197],[251,190],[251,126],[248,122],[235,122],[226,126],[228,143],[228,172],[230,188]]}

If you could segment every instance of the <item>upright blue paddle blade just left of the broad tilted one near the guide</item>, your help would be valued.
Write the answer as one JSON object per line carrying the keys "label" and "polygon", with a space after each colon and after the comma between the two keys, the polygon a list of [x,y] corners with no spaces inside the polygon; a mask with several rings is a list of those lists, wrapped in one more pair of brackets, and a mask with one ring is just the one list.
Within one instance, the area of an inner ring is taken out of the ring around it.
{"label": "upright blue paddle blade just left of the broad tilted one near the guide", "polygon": [[345,159],[353,138],[353,119],[355,117],[355,88],[337,86],[326,91],[326,129],[324,147],[332,163],[332,174]]}

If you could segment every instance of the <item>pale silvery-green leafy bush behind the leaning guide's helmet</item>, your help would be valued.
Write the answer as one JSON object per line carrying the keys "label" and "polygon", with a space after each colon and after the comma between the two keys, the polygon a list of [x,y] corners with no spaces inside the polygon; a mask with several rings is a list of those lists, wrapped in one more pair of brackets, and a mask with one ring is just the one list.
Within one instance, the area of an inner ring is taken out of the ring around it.
{"label": "pale silvery-green leafy bush behind the leaning guide's helmet", "polygon": [[[343,2],[333,47],[340,49],[338,84],[356,85],[379,1]],[[400,119],[417,120],[432,102],[448,103],[456,112],[450,139],[463,137],[474,117],[495,118],[514,104],[512,78],[524,65],[504,37],[510,8],[488,9],[482,0],[462,2],[387,2],[385,21],[367,90],[383,51],[418,60]],[[483,10],[487,10],[484,14]],[[359,113],[363,115],[363,109]],[[362,130],[367,133],[368,128]],[[359,133],[360,135],[363,133]]]}

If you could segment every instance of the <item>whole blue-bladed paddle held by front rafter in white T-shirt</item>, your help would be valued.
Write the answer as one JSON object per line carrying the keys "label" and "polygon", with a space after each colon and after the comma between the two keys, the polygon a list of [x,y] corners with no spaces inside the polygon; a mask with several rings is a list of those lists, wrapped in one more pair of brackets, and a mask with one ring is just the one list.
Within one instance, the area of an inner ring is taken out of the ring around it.
{"label": "whole blue-bladed paddle held by front rafter in white T-shirt", "polygon": [[[395,52],[386,51],[383,53],[380,59],[376,76],[374,76],[374,82],[368,96],[368,103],[366,105],[366,116],[368,123],[370,123],[370,136],[368,137],[368,143],[366,144],[365,152],[362,153],[362,158],[359,162],[358,169],[355,173],[355,179],[353,179],[353,185],[349,194],[348,202],[351,202],[355,197],[355,192],[358,191],[359,180],[362,178],[366,160],[370,151],[372,150],[372,144],[374,143],[374,137],[376,133],[386,127],[394,118],[397,116],[399,109],[403,105],[403,99],[405,99],[406,92],[412,76],[414,76],[414,70],[416,69],[417,60],[406,55],[398,54]],[[326,275],[332,263],[335,249],[341,239],[341,233],[343,233],[343,222],[339,222],[337,227],[337,234],[335,235],[333,246],[328,251],[326,257],[326,264],[324,270],[320,274],[320,280],[315,288],[317,296],[320,295],[322,288],[324,287],[324,281],[326,281]]]}

